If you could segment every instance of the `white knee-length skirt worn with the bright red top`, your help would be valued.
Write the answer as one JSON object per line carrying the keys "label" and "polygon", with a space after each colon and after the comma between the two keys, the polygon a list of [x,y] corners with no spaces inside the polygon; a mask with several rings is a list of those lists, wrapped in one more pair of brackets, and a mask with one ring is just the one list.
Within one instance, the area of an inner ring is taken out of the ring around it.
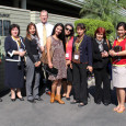
{"label": "white knee-length skirt worn with the bright red top", "polygon": [[126,66],[113,66],[113,87],[126,88]]}

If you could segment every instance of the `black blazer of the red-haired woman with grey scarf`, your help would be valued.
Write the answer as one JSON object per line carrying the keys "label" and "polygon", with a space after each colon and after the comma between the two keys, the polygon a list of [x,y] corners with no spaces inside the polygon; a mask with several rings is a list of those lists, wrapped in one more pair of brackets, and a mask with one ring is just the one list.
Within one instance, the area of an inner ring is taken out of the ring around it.
{"label": "black blazer of the red-haired woman with grey scarf", "polygon": [[[104,41],[103,48],[106,51],[112,49],[111,43],[108,42],[108,45],[107,45],[106,41]],[[99,44],[96,43],[94,38],[92,39],[92,51],[93,51],[93,68],[98,69],[98,68],[107,67],[108,57],[102,57],[101,51],[99,49]]]}

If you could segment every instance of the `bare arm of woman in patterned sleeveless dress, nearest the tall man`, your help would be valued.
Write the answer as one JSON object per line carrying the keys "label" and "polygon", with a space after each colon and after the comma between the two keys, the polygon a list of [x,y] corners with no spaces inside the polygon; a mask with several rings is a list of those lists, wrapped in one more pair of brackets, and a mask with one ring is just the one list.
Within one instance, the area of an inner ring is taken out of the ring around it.
{"label": "bare arm of woman in patterned sleeveless dress, nearest the tall man", "polygon": [[50,46],[51,46],[51,38],[48,37],[47,38],[47,43],[46,43],[46,48],[47,48],[47,59],[48,59],[48,67],[53,68],[53,62],[50,59]]}

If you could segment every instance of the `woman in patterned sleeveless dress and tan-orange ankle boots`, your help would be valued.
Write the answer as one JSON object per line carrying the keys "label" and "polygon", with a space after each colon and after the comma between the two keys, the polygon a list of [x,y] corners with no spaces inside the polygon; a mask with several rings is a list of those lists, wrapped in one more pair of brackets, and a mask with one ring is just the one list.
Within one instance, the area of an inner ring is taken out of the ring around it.
{"label": "woman in patterned sleeveless dress and tan-orange ankle boots", "polygon": [[[59,104],[65,104],[65,102],[60,99],[60,91],[61,91],[61,80],[64,78],[67,78],[64,33],[65,33],[64,25],[61,23],[57,23],[54,26],[51,36],[47,38],[47,44],[46,44],[48,67],[50,69],[56,68],[58,70],[57,75],[50,73],[48,77],[48,79],[53,81],[50,103],[57,101]],[[50,57],[50,54],[53,55],[53,58]]]}

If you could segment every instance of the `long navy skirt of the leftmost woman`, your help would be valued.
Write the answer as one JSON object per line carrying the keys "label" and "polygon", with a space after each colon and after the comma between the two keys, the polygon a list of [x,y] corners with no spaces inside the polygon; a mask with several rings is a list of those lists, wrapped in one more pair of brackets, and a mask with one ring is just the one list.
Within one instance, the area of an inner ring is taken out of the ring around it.
{"label": "long navy skirt of the leftmost woman", "polygon": [[24,62],[5,61],[4,84],[9,88],[23,88],[24,85]]}

